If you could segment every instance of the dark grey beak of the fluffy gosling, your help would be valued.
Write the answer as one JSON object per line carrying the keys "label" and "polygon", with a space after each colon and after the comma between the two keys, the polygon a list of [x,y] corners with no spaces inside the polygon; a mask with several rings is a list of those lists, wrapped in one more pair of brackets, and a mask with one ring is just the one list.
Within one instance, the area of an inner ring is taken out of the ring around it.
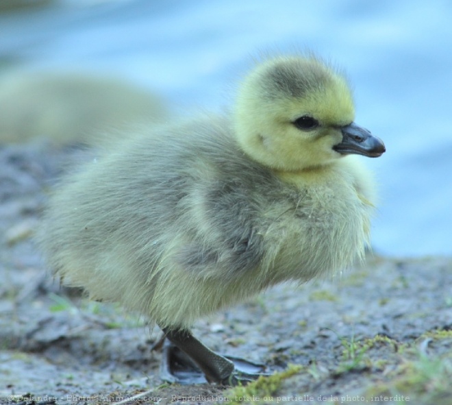
{"label": "dark grey beak of the fluffy gosling", "polygon": [[342,142],[334,145],[333,149],[342,155],[357,154],[378,158],[386,151],[381,139],[373,136],[371,132],[351,123],[341,127]]}

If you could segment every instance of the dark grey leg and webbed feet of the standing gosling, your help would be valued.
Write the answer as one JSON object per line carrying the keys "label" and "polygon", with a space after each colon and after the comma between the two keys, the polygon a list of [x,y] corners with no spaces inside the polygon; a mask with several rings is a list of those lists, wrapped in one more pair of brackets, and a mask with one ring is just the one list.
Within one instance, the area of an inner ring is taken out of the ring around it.
{"label": "dark grey leg and webbed feet of the standing gosling", "polygon": [[[183,384],[199,383],[196,366],[204,373],[205,380],[222,385],[246,384],[264,372],[262,365],[249,363],[239,358],[229,360],[229,358],[212,352],[188,330],[163,328],[163,332],[168,341],[181,350],[181,352],[175,353],[174,347],[168,347],[168,345],[164,347],[162,374],[165,380]],[[171,363],[174,361],[184,366],[184,380],[171,373]]]}

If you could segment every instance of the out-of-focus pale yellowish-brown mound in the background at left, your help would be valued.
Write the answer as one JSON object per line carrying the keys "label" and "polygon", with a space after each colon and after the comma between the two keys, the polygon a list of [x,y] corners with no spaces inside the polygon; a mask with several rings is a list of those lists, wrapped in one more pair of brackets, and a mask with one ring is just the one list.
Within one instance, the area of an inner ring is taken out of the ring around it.
{"label": "out-of-focus pale yellowish-brown mound in the background at left", "polygon": [[127,81],[70,72],[1,77],[0,106],[0,144],[46,138],[55,147],[95,146],[111,128],[158,123],[166,115],[163,100]]}

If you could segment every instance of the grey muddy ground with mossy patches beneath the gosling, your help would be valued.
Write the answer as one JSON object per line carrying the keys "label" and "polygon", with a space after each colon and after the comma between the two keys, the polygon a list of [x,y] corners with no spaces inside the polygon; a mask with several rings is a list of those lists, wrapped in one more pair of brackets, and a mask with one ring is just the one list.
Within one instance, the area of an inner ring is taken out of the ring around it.
{"label": "grey muddy ground with mossy patches beneath the gosling", "polygon": [[0,404],[452,404],[452,258],[375,253],[334,280],[278,286],[194,333],[271,371],[299,369],[236,391],[165,384],[159,330],[46,275],[33,234],[67,154],[0,147]]}

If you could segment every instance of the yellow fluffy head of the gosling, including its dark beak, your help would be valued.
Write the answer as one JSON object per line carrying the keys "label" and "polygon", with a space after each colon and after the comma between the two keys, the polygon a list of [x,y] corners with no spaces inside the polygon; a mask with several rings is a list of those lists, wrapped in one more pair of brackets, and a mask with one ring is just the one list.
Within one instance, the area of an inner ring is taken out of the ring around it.
{"label": "yellow fluffy head of the gosling, including its dark beak", "polygon": [[384,143],[353,123],[347,81],[314,57],[280,57],[242,83],[234,125],[253,160],[283,171],[334,162],[347,154],[377,157]]}

